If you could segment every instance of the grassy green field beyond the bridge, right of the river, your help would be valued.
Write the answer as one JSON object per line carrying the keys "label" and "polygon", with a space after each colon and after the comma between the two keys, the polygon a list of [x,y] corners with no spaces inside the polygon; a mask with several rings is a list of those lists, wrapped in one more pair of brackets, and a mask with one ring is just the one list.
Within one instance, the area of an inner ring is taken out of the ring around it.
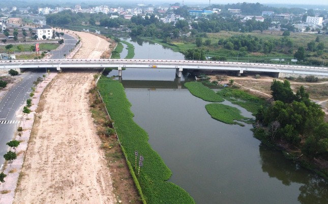
{"label": "grassy green field beyond the bridge, right of the river", "polygon": [[[307,44],[311,41],[314,41],[317,36],[320,37],[320,42],[324,43],[325,47],[328,46],[328,37],[325,35],[311,34],[311,33],[290,33],[288,38],[291,40],[293,46],[291,47],[292,53],[288,53],[283,49],[274,50],[269,54],[263,54],[261,52],[239,52],[236,50],[227,50],[223,46],[218,45],[219,39],[227,39],[231,36],[236,35],[251,35],[256,36],[260,40],[277,40],[283,38],[282,31],[263,31],[261,32],[252,32],[252,33],[242,33],[242,32],[233,32],[233,31],[220,31],[217,33],[206,33],[207,37],[202,37],[203,42],[206,39],[211,40],[210,46],[201,46],[197,48],[195,45],[195,38],[192,36],[185,39],[172,39],[169,43],[163,43],[162,39],[151,38],[151,37],[142,37],[142,39],[149,40],[154,43],[159,43],[165,47],[169,47],[175,52],[184,53],[189,49],[202,49],[207,57],[225,57],[227,61],[238,61],[238,62],[263,62],[263,63],[277,63],[277,64],[290,64],[291,59],[294,59],[293,53],[297,51],[300,46],[303,46],[307,49]],[[327,49],[324,50],[323,54],[318,56],[316,52],[309,52],[306,50],[307,59],[319,62],[327,63],[328,61],[328,52]],[[272,59],[284,59],[272,60]],[[328,63],[327,63],[328,64]],[[315,64],[314,64],[315,65]]]}

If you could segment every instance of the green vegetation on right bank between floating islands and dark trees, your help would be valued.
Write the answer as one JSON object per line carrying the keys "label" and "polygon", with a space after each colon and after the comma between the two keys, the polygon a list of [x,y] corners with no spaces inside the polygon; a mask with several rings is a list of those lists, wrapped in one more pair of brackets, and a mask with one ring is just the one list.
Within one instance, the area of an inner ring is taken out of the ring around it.
{"label": "green vegetation on right bank between floating islands and dark trees", "polygon": [[267,102],[265,99],[253,96],[243,90],[225,88],[217,93],[219,96],[230,101],[233,104],[239,105],[245,108],[247,111],[252,112],[255,115],[258,111],[258,108],[266,106]]}

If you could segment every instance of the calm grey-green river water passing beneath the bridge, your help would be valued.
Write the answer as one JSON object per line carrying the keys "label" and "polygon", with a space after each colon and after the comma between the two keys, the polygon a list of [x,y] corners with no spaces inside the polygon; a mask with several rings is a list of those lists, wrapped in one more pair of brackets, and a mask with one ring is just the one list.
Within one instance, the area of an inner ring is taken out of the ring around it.
{"label": "calm grey-green river water passing beneath the bridge", "polygon": [[[127,41],[135,46],[135,59],[183,59],[158,44]],[[175,78],[175,70],[127,69],[121,80],[134,120],[172,171],[169,181],[196,203],[328,203],[327,183],[261,145],[250,125],[211,118],[208,102],[183,86],[192,79]]]}

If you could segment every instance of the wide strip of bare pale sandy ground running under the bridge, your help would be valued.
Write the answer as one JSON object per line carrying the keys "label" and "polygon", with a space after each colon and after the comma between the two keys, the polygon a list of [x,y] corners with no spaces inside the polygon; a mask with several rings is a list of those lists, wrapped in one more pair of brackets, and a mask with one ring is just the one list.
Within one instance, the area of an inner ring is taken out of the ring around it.
{"label": "wide strip of bare pale sandy ground running under the bridge", "polygon": [[[108,46],[78,35],[78,58],[99,58]],[[14,203],[116,202],[88,104],[95,73],[60,73],[43,93]]]}

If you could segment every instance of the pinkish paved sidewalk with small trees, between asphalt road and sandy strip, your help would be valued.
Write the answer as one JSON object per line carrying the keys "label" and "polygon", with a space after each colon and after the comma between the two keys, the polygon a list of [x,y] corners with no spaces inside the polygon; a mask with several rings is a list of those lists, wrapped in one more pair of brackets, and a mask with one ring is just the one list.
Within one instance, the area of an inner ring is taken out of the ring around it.
{"label": "pinkish paved sidewalk with small trees, between asphalt road and sandy strip", "polygon": [[[21,168],[24,161],[24,155],[26,153],[27,143],[29,140],[29,136],[31,135],[31,130],[34,123],[35,111],[38,107],[38,103],[40,101],[40,97],[46,86],[50,83],[50,81],[57,75],[57,73],[50,73],[38,86],[35,91],[35,95],[32,98],[32,106],[31,106],[31,113],[23,114],[22,109],[21,116],[20,116],[20,124],[17,127],[22,127],[23,132],[21,137],[16,135],[16,140],[21,141],[19,146],[16,149],[17,158],[12,161],[11,166],[7,164],[4,170],[4,174],[7,177],[4,179],[5,183],[3,183],[0,192],[3,190],[9,191],[8,193],[2,194],[0,193],[0,203],[12,203],[15,196],[15,189],[18,182],[18,177],[21,172]],[[14,151],[14,150],[12,150]]]}

